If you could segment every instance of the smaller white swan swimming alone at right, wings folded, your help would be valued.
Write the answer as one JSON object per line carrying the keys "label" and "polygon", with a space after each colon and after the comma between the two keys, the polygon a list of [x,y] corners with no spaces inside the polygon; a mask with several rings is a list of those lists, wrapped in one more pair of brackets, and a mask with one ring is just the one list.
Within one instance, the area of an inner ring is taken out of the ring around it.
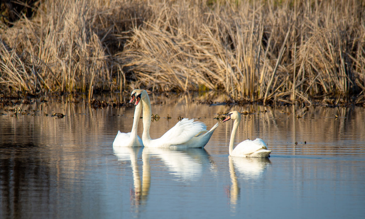
{"label": "smaller white swan swimming alone at right, wings folded", "polygon": [[231,139],[229,141],[229,155],[233,157],[269,157],[271,150],[268,150],[268,147],[261,138],[256,138],[253,141],[247,139],[246,141],[239,143],[233,149],[234,138],[236,137],[239,122],[241,122],[241,115],[237,111],[232,111],[228,113],[227,118],[224,119],[223,122],[226,122],[230,119],[233,119],[234,123]]}

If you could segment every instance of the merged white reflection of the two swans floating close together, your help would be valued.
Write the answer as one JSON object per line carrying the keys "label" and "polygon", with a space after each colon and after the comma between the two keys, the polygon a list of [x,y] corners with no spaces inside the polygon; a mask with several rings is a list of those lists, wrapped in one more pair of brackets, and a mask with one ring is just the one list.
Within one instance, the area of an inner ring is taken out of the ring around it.
{"label": "merged white reflection of the two swans floating close together", "polygon": [[149,148],[142,149],[142,180],[138,167],[138,153],[141,147],[113,147],[119,161],[131,161],[134,189],[131,190],[131,205],[144,205],[148,199],[151,185],[150,158],[158,157],[169,171],[182,180],[193,180],[201,176],[203,163],[210,162],[210,155],[203,148],[187,150]]}

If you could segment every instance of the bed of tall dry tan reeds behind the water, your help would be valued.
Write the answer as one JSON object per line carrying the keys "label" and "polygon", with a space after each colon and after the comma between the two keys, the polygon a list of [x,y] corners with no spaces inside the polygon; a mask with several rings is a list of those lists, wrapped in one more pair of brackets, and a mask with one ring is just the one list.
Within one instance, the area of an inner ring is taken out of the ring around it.
{"label": "bed of tall dry tan reeds behind the water", "polygon": [[42,1],[1,28],[0,88],[215,90],[234,101],[365,102],[365,3]]}

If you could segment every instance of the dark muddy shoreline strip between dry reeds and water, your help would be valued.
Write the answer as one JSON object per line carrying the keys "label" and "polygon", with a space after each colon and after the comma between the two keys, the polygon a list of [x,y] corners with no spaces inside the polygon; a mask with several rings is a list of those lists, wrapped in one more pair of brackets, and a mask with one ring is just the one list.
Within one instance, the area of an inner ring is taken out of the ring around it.
{"label": "dark muddy shoreline strip between dry reeds and water", "polygon": [[[299,105],[302,107],[306,106],[323,106],[323,107],[351,107],[358,106],[365,108],[365,102],[356,101],[356,97],[352,99],[343,100],[335,98],[311,99],[311,104],[306,102],[291,102],[290,100],[270,100],[263,104],[262,101],[247,101],[239,100],[235,101],[228,95],[220,95],[219,98],[216,97],[218,92],[190,92],[190,93],[159,93],[155,92],[154,96],[168,98],[169,96],[177,97],[181,95],[188,95],[191,102],[196,104],[204,105],[247,105],[247,104],[257,104],[265,106],[289,106],[289,105]],[[115,96],[114,98],[106,97],[108,95]],[[19,104],[31,105],[36,102],[46,103],[48,101],[62,101],[61,98],[67,99],[68,102],[73,104],[85,104],[93,108],[105,108],[105,107],[132,107],[129,104],[129,94],[124,93],[111,93],[111,92],[100,92],[96,93],[93,98],[88,100],[87,93],[53,93],[53,94],[33,94],[33,93],[23,93],[23,94],[13,94],[13,95],[0,95],[0,108],[15,107]],[[160,99],[160,98],[158,98]],[[155,104],[166,104],[166,101],[157,101]]]}

